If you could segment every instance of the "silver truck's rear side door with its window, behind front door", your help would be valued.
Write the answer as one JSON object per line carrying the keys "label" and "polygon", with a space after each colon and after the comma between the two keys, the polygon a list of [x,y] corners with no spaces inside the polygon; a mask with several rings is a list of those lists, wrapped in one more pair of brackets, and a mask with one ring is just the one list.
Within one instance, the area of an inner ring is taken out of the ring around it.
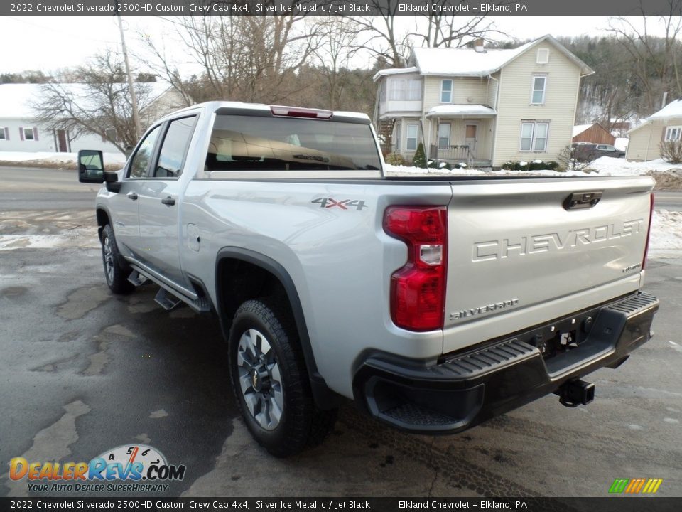
{"label": "silver truck's rear side door with its window, behind front door", "polygon": [[178,246],[180,176],[196,121],[197,116],[191,115],[163,125],[158,158],[139,191],[140,238],[144,242],[140,259],[180,285],[185,284]]}

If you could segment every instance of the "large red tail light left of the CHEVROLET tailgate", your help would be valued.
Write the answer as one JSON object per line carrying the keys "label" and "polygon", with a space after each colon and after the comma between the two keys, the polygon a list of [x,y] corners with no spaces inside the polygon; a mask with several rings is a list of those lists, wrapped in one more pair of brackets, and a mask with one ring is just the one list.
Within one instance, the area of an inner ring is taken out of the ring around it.
{"label": "large red tail light left of the CHEVROLET tailgate", "polygon": [[407,244],[407,263],[391,276],[391,318],[410,331],[443,327],[448,268],[445,206],[391,206],[384,231]]}

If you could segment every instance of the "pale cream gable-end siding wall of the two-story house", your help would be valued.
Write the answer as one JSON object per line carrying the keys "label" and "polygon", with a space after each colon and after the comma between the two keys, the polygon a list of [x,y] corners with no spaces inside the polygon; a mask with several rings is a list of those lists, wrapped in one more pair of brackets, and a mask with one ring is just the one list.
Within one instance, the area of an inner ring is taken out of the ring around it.
{"label": "pale cream gable-end siding wall of the two-story house", "polygon": [[[537,64],[538,48],[549,50],[549,62]],[[534,75],[547,77],[544,105],[531,105]],[[551,43],[541,43],[509,63],[500,74],[497,133],[493,166],[508,160],[556,160],[573,132],[580,68]],[[549,122],[547,151],[520,151],[521,121]]]}

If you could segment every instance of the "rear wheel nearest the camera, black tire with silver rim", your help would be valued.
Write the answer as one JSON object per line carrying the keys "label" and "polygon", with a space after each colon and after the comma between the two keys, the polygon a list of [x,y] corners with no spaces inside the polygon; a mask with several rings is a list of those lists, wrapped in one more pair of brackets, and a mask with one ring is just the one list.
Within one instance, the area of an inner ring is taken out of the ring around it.
{"label": "rear wheel nearest the camera, black tire with silver rim", "polygon": [[334,427],[337,411],[315,406],[291,314],[274,300],[249,300],[237,309],[229,370],[244,422],[271,455],[320,444]]}

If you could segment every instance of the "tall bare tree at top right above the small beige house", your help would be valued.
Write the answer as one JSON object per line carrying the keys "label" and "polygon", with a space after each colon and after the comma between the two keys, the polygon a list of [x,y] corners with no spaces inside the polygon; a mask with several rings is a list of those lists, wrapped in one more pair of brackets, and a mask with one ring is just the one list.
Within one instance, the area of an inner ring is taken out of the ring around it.
{"label": "tall bare tree at top right above the small beige house", "polygon": [[[664,97],[682,96],[681,65],[682,0],[669,0],[666,16],[646,16],[640,1],[643,28],[627,17],[612,18],[610,30],[617,34],[632,63],[632,73],[641,82],[648,113],[661,108]],[[664,36],[652,36],[650,27],[658,23]]]}

